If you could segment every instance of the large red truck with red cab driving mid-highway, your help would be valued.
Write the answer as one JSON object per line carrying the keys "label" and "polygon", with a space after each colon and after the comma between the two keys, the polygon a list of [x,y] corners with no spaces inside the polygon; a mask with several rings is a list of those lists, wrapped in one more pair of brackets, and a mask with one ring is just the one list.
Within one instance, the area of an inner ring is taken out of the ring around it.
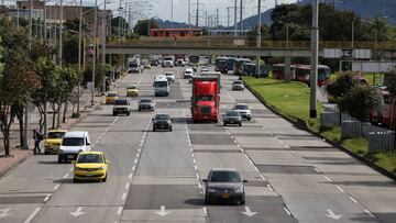
{"label": "large red truck with red cab driving mid-highway", "polygon": [[193,77],[191,116],[198,121],[218,123],[220,104],[220,75]]}

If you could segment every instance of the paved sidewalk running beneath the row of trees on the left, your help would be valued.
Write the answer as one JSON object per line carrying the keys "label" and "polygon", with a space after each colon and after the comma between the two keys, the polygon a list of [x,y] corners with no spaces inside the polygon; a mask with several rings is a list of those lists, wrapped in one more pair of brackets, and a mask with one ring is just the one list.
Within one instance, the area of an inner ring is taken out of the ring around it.
{"label": "paved sidewalk running beneath the row of trees on the left", "polygon": [[[111,89],[117,88],[118,85],[123,80],[125,76],[122,76],[120,79],[118,79],[116,82],[111,83]],[[87,116],[90,112],[95,111],[101,103],[102,101],[105,101],[105,97],[103,96],[96,96],[95,97],[95,105],[90,105],[90,93],[86,92],[84,93],[86,94],[86,97],[81,97],[82,100],[80,100],[81,102],[81,116],[79,119],[70,119],[72,115],[72,108],[69,108],[69,111],[66,115],[66,122],[62,123],[61,121],[61,127],[63,130],[69,130],[72,129],[76,123],[78,123],[81,119],[84,119],[85,116]],[[37,113],[37,111],[35,110],[35,113],[31,113],[31,118],[34,118],[35,120],[31,119],[31,130],[33,130],[33,127],[38,129],[38,119],[40,115]],[[47,114],[47,123],[48,126],[51,126],[52,123],[52,115]],[[32,134],[32,133],[30,133]],[[2,147],[2,138],[0,138],[0,177],[3,176],[4,174],[7,174],[11,168],[15,167],[16,165],[21,164],[22,161],[24,161],[25,159],[28,159],[30,156],[33,155],[33,149],[21,149],[19,146],[15,146],[19,144],[19,123],[15,122],[13,123],[12,126],[12,141],[11,141],[11,149],[10,149],[10,157],[2,157],[3,156],[3,147]],[[29,148],[33,148],[33,141],[31,140],[31,137],[29,138]],[[43,143],[41,145],[41,147],[43,147]],[[42,152],[44,152],[42,149]]]}

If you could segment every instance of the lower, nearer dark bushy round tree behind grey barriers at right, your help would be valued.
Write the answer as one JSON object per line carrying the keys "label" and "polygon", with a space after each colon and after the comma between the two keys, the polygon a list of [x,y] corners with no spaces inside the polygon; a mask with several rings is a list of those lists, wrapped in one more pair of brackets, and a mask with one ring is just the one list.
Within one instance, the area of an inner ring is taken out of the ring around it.
{"label": "lower, nearer dark bushy round tree behind grey barriers at right", "polygon": [[375,88],[356,85],[345,96],[339,98],[337,104],[341,112],[346,112],[360,121],[366,121],[370,112],[381,107],[382,96]]}

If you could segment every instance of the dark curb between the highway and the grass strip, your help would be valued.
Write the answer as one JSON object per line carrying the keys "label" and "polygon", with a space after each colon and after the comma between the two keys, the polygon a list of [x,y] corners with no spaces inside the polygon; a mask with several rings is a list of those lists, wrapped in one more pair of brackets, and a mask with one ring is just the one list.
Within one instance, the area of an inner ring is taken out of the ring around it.
{"label": "dark curb between the highway and the grass strip", "polygon": [[[260,96],[260,93],[256,92],[256,91],[255,91],[251,86],[249,86],[244,80],[243,80],[243,85],[249,89],[249,91],[250,91],[251,93],[253,93],[254,97],[256,97],[256,98],[260,100],[260,102],[262,102],[265,107],[267,107],[272,112],[274,112],[275,114],[282,116],[283,119],[285,119],[286,121],[290,122],[290,123],[294,124],[296,127],[298,127],[297,124],[298,124],[298,122],[300,122],[301,120],[298,120],[298,119],[297,119],[297,121],[296,121],[296,120],[293,120],[293,119],[289,118],[289,116],[285,116],[285,115],[282,114],[275,107],[270,105],[270,104],[265,101],[265,99],[264,99],[262,96]],[[298,129],[299,129],[299,127],[298,127]],[[360,163],[362,163],[362,164],[371,167],[372,169],[376,170],[377,172],[382,174],[383,176],[388,177],[388,178],[391,178],[392,180],[396,181],[396,175],[393,174],[393,172],[391,172],[391,171],[388,171],[387,169],[385,169],[385,168],[383,168],[383,167],[380,167],[378,165],[373,164],[372,161],[370,161],[369,159],[366,159],[366,158],[364,158],[364,157],[362,157],[362,156],[359,156],[358,154],[349,150],[346,147],[340,145],[339,143],[337,143],[337,142],[334,142],[334,141],[332,141],[332,140],[330,140],[330,138],[328,138],[328,137],[326,137],[326,136],[323,136],[323,135],[321,135],[320,133],[314,132],[314,131],[311,131],[310,129],[305,129],[304,131],[307,131],[307,132],[309,132],[310,134],[312,134],[312,135],[315,135],[315,136],[317,136],[317,137],[319,137],[319,138],[323,138],[324,142],[326,142],[326,143],[329,143],[331,146],[333,146],[333,147],[336,147],[336,148],[338,148],[338,149],[340,149],[340,150],[349,154],[350,156],[352,156],[353,158],[355,158],[355,159],[359,160]]]}

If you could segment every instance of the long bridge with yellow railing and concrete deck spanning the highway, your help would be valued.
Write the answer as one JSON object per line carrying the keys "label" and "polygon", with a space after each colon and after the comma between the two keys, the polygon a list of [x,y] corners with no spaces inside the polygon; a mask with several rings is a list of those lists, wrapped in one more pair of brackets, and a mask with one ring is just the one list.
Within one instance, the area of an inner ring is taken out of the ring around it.
{"label": "long bridge with yellow railing and concrete deck spanning the highway", "polygon": [[[256,41],[229,37],[146,37],[107,42],[106,54],[185,54],[185,55],[241,55],[263,57],[310,57],[310,42]],[[355,42],[354,48],[395,51],[396,42]],[[319,42],[319,57],[324,48],[351,49],[351,42]]]}

